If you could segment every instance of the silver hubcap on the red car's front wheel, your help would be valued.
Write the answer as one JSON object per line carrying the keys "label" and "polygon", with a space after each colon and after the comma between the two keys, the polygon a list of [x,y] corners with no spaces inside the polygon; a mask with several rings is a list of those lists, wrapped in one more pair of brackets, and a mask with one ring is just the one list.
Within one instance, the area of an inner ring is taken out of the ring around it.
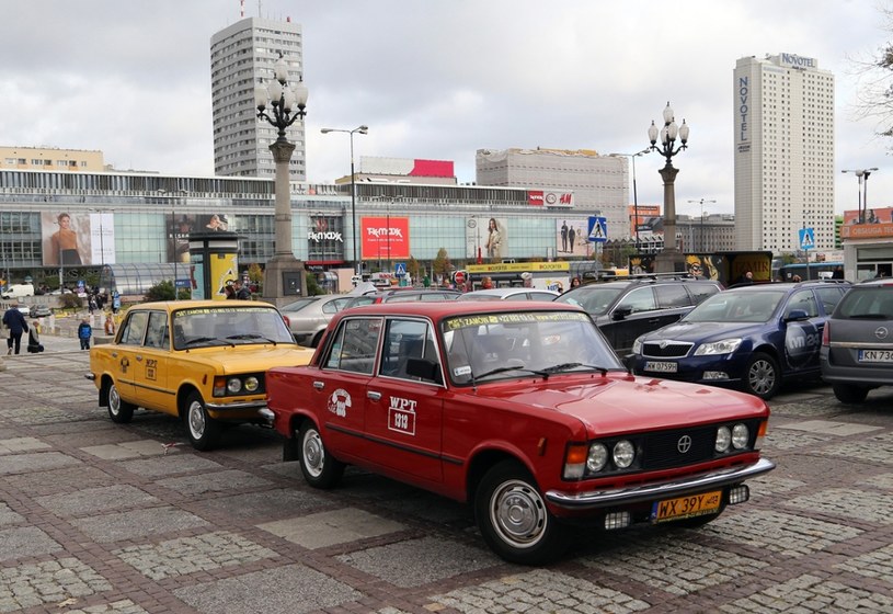
{"label": "silver hubcap on the red car's front wheel", "polygon": [[490,518],[502,538],[517,548],[536,545],[546,531],[547,513],[539,493],[510,480],[493,493]]}

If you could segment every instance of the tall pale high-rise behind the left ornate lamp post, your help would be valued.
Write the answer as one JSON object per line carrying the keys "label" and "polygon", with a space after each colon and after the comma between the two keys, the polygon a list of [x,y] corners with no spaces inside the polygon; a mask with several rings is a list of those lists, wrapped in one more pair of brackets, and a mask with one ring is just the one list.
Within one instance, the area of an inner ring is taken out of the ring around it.
{"label": "tall pale high-rise behind the left ornate lamp post", "polygon": [[[273,65],[283,55],[288,82],[304,75],[301,26],[290,21],[247,18],[210,38],[210,84],[214,113],[214,172],[218,175],[273,178],[270,145],[276,129],[257,120],[254,87],[273,79]],[[304,123],[288,128],[295,144],[289,175],[307,179]]]}

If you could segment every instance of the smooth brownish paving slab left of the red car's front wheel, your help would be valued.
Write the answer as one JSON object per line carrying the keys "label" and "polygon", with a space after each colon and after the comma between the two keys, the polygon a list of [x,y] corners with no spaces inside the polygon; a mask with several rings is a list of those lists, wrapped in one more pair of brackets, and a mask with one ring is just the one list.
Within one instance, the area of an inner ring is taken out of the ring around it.
{"label": "smooth brownish paving slab left of the red car's front wheel", "polygon": [[267,531],[293,544],[314,549],[356,539],[378,537],[379,535],[403,531],[405,526],[364,510],[344,508],[267,522],[259,524],[257,528]]}

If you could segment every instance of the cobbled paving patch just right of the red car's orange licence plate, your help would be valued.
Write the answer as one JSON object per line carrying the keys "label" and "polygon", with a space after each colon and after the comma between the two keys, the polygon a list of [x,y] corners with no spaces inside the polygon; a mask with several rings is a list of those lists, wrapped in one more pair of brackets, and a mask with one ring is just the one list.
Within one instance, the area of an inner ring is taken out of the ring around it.
{"label": "cobbled paving patch just right of the red car's orange licence plate", "polygon": [[862,534],[844,524],[765,510],[723,514],[701,531],[787,556],[806,556]]}

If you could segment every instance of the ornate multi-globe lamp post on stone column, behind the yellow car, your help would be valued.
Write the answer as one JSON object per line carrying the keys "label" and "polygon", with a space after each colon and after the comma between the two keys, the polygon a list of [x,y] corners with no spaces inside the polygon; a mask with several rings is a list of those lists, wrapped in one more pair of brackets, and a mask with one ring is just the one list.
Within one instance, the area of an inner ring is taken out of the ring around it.
{"label": "ornate multi-globe lamp post on stone column, behind the yellow car", "polygon": [[[295,258],[291,250],[291,198],[289,194],[288,162],[295,151],[295,144],[285,138],[285,129],[297,120],[307,115],[307,86],[298,77],[298,82],[288,83],[288,65],[282,53],[273,67],[274,79],[268,83],[260,83],[254,88],[254,102],[257,107],[257,118],[266,121],[276,128],[278,137],[270,145],[273,160],[276,162],[276,207],[275,207],[275,237],[276,247],[273,258],[264,270],[265,299],[277,305],[286,302],[286,286],[296,286],[297,292],[289,294],[307,294],[307,281],[304,277],[304,264]],[[272,107],[272,109],[270,109]],[[268,111],[267,111],[268,110]]]}

